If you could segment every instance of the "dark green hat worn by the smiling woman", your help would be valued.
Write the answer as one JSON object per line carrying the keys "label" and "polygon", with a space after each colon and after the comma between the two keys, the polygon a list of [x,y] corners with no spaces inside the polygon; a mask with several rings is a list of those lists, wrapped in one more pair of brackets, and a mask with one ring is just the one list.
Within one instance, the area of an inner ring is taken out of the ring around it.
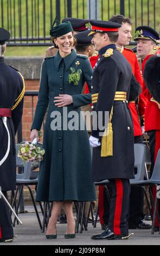
{"label": "dark green hat worn by the smiling woman", "polygon": [[[56,26],[54,26],[56,23]],[[73,32],[71,22],[66,21],[64,23],[59,23],[59,21],[54,20],[52,28],[50,29],[50,35],[57,38],[59,36],[65,35],[69,32]]]}

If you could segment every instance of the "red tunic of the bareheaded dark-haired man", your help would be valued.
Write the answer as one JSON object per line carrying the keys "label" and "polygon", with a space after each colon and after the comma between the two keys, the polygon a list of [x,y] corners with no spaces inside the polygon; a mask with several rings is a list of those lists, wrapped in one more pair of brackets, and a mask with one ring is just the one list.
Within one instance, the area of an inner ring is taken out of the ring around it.
{"label": "red tunic of the bareheaded dark-haired man", "polygon": [[[136,54],[131,49],[125,48],[125,47],[121,49],[121,53],[130,63],[133,75],[136,77],[136,80],[142,86],[143,79],[140,72],[140,67],[139,67]],[[130,108],[132,119],[133,119],[134,136],[142,135],[142,131],[140,129],[140,124],[139,124],[139,117],[141,121],[144,120],[144,111],[145,111],[146,103],[147,103],[147,100],[143,94],[139,95],[138,109],[136,109],[136,103],[134,101],[129,102],[129,108]],[[139,114],[139,117],[138,117],[138,114]]]}

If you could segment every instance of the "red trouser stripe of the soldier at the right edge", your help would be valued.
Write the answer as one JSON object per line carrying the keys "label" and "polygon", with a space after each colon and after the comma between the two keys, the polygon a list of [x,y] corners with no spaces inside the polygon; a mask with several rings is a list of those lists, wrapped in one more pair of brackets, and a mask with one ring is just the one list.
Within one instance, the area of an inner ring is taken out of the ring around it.
{"label": "red trouser stripe of the soldier at the right edge", "polygon": [[[156,157],[158,154],[158,150],[160,148],[160,131],[157,130],[156,131],[156,138],[155,138],[155,162],[156,162]],[[152,188],[152,193],[153,193],[153,199],[156,199],[156,194],[157,194],[157,190],[156,187]],[[158,201],[157,201],[157,210],[158,210]],[[152,211],[154,211],[154,208],[152,209]],[[155,227],[159,227],[159,221],[156,215],[156,219],[155,219]]]}

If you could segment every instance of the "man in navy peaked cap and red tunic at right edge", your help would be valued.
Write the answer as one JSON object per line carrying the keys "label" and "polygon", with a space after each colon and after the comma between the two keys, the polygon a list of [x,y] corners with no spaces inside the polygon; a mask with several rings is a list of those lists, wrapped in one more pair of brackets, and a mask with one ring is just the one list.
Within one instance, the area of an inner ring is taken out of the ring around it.
{"label": "man in navy peaked cap and red tunic at right edge", "polygon": [[[151,56],[157,55],[159,52],[159,46],[157,46],[157,41],[159,40],[158,33],[151,27],[140,26],[136,28],[136,38],[138,41],[137,52],[140,56],[143,56],[142,72],[144,71],[145,64],[148,62]],[[159,105],[150,94],[148,88],[145,86],[143,81],[143,93],[148,99],[148,103],[145,109],[145,132],[147,132],[150,141],[150,153],[151,153],[151,175],[155,165],[158,149],[160,148],[160,113]],[[156,189],[152,188],[153,198],[156,197]],[[160,213],[160,205],[157,208]],[[155,223],[156,230],[159,230],[159,222],[156,217]]]}

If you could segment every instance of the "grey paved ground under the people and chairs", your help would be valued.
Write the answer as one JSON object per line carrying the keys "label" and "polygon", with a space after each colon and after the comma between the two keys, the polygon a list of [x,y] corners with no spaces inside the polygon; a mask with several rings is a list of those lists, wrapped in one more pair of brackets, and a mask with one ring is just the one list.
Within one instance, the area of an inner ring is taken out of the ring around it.
{"label": "grey paved ground under the people and chairs", "polygon": [[[97,228],[93,228],[92,224],[88,225],[88,230],[82,234],[76,234],[76,239],[65,239],[66,224],[57,224],[57,239],[47,240],[45,234],[41,233],[35,213],[30,206],[25,207],[29,211],[28,214],[20,214],[23,225],[16,225],[15,235],[17,238],[8,245],[160,245],[160,235],[155,233],[151,235],[151,230],[130,230],[130,233],[135,233],[129,240],[125,241],[94,241],[91,240],[93,234],[101,232],[100,224]],[[1,245],[5,245],[1,243]]]}

